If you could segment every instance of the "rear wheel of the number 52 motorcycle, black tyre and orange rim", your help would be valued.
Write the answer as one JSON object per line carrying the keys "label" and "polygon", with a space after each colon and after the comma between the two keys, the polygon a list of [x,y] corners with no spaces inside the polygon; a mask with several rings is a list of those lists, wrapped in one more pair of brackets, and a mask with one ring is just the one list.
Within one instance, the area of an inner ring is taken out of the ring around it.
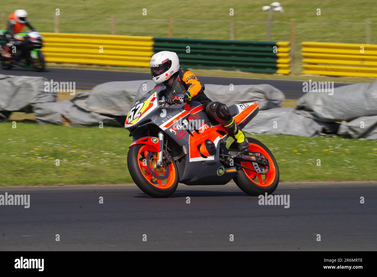
{"label": "rear wheel of the number 52 motorcycle, black tyre and orange rim", "polygon": [[[267,158],[269,166],[261,169],[265,171],[268,170],[268,172],[267,174],[258,174],[243,167],[238,167],[238,175],[236,175],[233,180],[237,186],[248,195],[258,196],[266,192],[267,194],[271,194],[279,184],[279,168],[277,167],[276,160],[271,151],[259,140],[252,138],[247,138],[247,140],[250,145],[248,148],[249,152],[257,153],[254,155]],[[230,149],[237,149],[235,142],[230,145]],[[240,164],[253,169],[251,162],[241,161]]]}

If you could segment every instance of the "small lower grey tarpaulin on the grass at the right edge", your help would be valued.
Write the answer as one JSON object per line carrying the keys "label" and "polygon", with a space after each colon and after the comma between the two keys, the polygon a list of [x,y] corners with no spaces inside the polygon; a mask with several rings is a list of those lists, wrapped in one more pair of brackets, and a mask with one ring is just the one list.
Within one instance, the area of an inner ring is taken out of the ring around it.
{"label": "small lower grey tarpaulin on the grass at the right edge", "polygon": [[339,135],[348,135],[355,139],[377,140],[377,116],[362,116],[350,122],[340,124]]}

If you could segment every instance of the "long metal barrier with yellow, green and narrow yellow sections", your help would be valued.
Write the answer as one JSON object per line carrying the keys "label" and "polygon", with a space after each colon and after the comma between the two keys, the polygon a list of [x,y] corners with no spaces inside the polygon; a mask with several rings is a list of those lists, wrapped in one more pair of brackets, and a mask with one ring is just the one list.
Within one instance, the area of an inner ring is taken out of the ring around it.
{"label": "long metal barrier with yellow, green and narrow yellow sections", "polygon": [[47,62],[149,67],[159,51],[176,52],[190,68],[290,73],[290,43],[41,33]]}

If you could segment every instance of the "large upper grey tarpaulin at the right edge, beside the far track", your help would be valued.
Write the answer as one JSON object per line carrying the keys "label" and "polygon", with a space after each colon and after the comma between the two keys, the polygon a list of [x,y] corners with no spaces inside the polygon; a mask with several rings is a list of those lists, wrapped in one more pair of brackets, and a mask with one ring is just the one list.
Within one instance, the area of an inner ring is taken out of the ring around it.
{"label": "large upper grey tarpaulin at the right edge, beside the far track", "polygon": [[314,119],[350,121],[377,115],[377,81],[334,88],[334,94],[307,92],[297,102],[297,110],[308,111]]}

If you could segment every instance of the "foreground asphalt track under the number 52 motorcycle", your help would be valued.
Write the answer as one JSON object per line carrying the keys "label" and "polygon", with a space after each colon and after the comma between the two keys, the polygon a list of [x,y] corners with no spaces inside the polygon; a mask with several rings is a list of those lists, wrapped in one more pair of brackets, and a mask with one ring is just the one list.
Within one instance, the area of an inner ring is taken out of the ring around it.
{"label": "foreground asphalt track under the number 52 motorcycle", "polygon": [[288,209],[259,205],[235,184],[180,184],[164,199],[135,185],[0,187],[3,195],[30,194],[29,209],[0,205],[0,251],[375,251],[376,185],[280,183],[274,194],[290,195]]}

